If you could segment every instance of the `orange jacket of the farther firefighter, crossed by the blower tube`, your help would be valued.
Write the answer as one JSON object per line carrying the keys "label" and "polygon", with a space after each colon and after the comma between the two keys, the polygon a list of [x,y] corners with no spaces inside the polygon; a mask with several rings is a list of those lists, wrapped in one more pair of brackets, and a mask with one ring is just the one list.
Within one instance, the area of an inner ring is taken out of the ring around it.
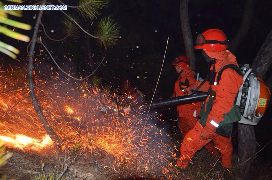
{"label": "orange jacket of the farther firefighter, crossed by the blower tube", "polygon": [[[182,84],[186,84],[186,82],[187,82],[188,85],[191,86],[191,85],[195,84],[196,82],[199,82],[194,78],[194,75],[195,75],[194,71],[191,71],[191,70],[183,71],[175,83],[175,90],[174,90],[172,97],[187,95],[188,93],[184,92],[184,89],[182,87],[180,88],[180,81]],[[189,119],[193,118],[193,114],[194,114],[195,110],[196,110],[197,116],[198,116],[198,113],[200,111],[202,104],[203,104],[202,102],[197,102],[197,103],[178,105],[177,110],[179,112],[179,117],[189,118]]]}

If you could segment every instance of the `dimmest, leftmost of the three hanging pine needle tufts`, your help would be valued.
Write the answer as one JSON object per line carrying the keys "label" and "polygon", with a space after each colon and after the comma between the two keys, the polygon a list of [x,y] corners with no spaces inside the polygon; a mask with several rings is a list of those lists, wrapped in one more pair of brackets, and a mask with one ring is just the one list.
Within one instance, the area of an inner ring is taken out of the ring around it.
{"label": "dimmest, leftmost of the three hanging pine needle tufts", "polygon": [[[79,23],[79,19],[75,17],[73,14],[71,14],[70,17],[73,18],[77,23]],[[62,28],[62,32],[64,34],[67,34],[70,37],[78,38],[79,29],[74,24],[74,22],[72,22],[69,18],[64,17],[62,23],[64,24]]]}

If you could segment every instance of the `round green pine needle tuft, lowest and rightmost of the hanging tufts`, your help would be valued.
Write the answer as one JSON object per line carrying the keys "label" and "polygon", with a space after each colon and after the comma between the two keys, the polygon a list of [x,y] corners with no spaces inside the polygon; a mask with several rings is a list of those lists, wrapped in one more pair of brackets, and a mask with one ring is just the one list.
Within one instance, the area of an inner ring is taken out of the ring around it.
{"label": "round green pine needle tuft, lowest and rightmost of the hanging tufts", "polygon": [[102,37],[98,39],[100,47],[106,50],[108,47],[116,45],[119,38],[119,27],[109,16],[102,19],[96,28],[95,36]]}

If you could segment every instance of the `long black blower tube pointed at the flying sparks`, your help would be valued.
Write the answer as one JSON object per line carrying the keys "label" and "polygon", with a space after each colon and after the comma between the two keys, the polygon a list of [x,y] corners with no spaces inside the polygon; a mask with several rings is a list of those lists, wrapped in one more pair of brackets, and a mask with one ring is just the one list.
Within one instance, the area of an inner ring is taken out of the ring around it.
{"label": "long black blower tube pointed at the flying sparks", "polygon": [[208,93],[197,91],[196,93],[191,95],[170,97],[168,99],[161,99],[161,100],[154,101],[151,104],[151,107],[153,107],[154,109],[157,109],[157,108],[163,108],[163,107],[195,103],[199,101],[205,101],[207,96],[208,96]]}

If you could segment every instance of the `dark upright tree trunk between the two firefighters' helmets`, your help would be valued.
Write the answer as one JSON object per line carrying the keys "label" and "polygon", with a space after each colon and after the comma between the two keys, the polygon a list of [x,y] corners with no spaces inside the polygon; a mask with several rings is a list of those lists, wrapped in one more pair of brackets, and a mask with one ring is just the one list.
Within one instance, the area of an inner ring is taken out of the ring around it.
{"label": "dark upright tree trunk between the two firefighters' helmets", "polygon": [[180,24],[182,28],[186,56],[190,60],[192,70],[194,70],[196,66],[196,57],[193,53],[194,45],[191,27],[189,24],[188,3],[189,0],[180,0]]}

